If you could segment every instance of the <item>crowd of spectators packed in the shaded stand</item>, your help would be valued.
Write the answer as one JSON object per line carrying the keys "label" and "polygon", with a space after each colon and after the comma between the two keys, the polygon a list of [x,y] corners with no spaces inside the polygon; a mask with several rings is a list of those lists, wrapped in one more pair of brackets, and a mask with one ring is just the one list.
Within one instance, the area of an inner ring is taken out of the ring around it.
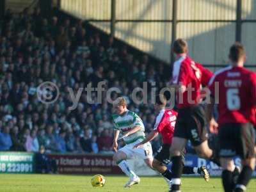
{"label": "crowd of spectators packed in the shaded stand", "polygon": [[[131,92],[144,81],[148,90],[159,89],[168,81],[170,70],[146,54],[134,55],[129,47],[117,46],[113,37],[88,31],[83,20],[44,17],[39,8],[19,15],[7,10],[0,26],[0,150],[38,152],[43,146],[48,153],[111,153],[113,107],[106,97],[100,104],[89,104],[83,92],[77,108],[68,109],[72,100],[67,88],[76,93],[100,81],[106,83],[105,90],[122,91],[128,108],[138,113],[150,132],[154,106],[135,104]],[[44,81],[60,89],[60,97],[52,104],[43,104],[36,95]],[[113,93],[111,98],[118,96]],[[97,94],[93,92],[89,99],[96,101]],[[154,150],[159,145],[157,138]]]}

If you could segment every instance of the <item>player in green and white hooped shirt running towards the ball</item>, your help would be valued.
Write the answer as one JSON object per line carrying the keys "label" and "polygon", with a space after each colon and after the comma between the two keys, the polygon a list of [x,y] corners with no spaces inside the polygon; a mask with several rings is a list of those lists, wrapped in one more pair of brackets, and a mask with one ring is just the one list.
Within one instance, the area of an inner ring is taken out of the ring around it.
{"label": "player in green and white hooped shirt running towards the ball", "polygon": [[[141,118],[136,113],[127,109],[127,102],[124,97],[118,97],[113,103],[113,107],[116,111],[116,114],[113,115],[113,124],[115,126],[113,139],[115,154],[113,159],[129,177],[129,181],[124,187],[131,188],[134,184],[140,183],[140,177],[129,168],[126,160],[139,157],[144,159],[148,167],[152,168],[152,147],[148,142],[141,148],[133,148],[134,145],[140,143],[145,138],[145,127]],[[125,146],[118,149],[117,140],[120,133],[122,134]]]}

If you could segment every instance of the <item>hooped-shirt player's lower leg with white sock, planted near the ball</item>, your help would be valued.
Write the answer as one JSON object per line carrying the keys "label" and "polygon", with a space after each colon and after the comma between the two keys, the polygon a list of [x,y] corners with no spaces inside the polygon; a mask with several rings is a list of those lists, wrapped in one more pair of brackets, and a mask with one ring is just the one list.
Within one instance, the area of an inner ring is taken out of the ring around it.
{"label": "hooped-shirt player's lower leg with white sock, planted near the ball", "polygon": [[127,156],[124,152],[118,151],[114,154],[113,159],[116,161],[116,164],[120,167],[122,172],[129,177],[129,181],[124,185],[125,188],[131,188],[134,184],[140,183],[140,177],[138,177],[130,168],[125,159]]}

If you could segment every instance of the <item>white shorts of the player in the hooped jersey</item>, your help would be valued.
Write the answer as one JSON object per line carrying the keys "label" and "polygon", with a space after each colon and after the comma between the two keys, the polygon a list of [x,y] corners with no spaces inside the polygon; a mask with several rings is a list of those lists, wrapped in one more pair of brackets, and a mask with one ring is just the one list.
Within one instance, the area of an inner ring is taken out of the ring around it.
{"label": "white shorts of the player in the hooped jersey", "polygon": [[139,139],[134,143],[127,144],[125,147],[120,148],[119,151],[124,152],[127,159],[133,159],[134,157],[139,157],[140,159],[153,159],[152,147],[149,142],[145,143],[143,147],[133,148],[134,145],[141,141],[143,140]]}

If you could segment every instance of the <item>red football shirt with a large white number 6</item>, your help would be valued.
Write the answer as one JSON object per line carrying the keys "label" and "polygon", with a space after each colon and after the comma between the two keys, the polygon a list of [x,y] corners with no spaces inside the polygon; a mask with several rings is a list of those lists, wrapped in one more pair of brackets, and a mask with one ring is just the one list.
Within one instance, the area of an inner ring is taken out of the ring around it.
{"label": "red football shirt with a large white number 6", "polygon": [[253,72],[244,67],[225,67],[214,74],[209,88],[212,96],[219,89],[219,124],[255,124],[256,75]]}

